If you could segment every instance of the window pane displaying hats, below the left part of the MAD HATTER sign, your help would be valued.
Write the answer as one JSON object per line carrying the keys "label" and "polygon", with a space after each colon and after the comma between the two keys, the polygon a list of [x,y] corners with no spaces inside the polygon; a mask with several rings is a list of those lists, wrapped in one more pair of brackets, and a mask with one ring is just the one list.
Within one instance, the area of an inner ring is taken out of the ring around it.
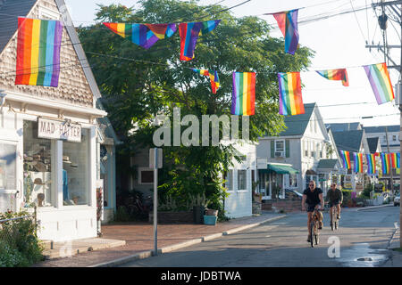
{"label": "window pane displaying hats, below the left part of the MAD HATTER sign", "polygon": [[38,138],[38,123],[23,125],[24,207],[54,206],[52,142]]}

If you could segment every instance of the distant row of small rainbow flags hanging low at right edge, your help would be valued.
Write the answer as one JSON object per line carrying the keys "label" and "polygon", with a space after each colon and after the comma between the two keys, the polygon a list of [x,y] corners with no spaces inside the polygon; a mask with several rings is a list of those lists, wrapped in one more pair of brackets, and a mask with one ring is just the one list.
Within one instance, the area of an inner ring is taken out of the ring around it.
{"label": "distant row of small rainbow flags hanging low at right edge", "polygon": [[343,167],[346,169],[352,169],[352,159],[354,164],[354,172],[363,173],[363,158],[365,157],[366,165],[367,165],[367,174],[375,175],[376,174],[376,157],[379,157],[381,161],[381,172],[383,175],[390,174],[392,168],[400,168],[400,153],[392,152],[392,153],[384,153],[384,152],[375,152],[371,154],[366,154],[363,156],[363,153],[360,152],[350,152],[350,151],[339,151],[340,159],[342,160]]}

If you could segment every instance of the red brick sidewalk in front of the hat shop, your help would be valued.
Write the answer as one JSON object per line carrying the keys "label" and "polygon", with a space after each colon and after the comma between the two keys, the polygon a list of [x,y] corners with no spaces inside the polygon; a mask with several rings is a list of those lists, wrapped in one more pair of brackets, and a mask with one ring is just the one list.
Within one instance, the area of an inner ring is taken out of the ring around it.
{"label": "red brick sidewalk in front of the hat shop", "polygon": [[[200,239],[214,233],[222,233],[248,224],[262,223],[268,219],[282,216],[263,214],[232,219],[216,225],[205,224],[159,224],[158,248],[165,248],[185,241]],[[126,240],[126,245],[80,253],[76,256],[46,260],[34,267],[87,267],[112,262],[113,260],[136,255],[154,248],[153,224],[108,224],[102,226],[103,238]]]}

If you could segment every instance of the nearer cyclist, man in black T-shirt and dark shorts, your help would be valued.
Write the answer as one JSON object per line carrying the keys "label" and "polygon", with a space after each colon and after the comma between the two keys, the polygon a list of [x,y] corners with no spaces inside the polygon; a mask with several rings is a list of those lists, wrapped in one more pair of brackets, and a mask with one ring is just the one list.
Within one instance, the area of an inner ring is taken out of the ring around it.
{"label": "nearer cyclist, man in black T-shirt and dark shorts", "polygon": [[[314,208],[318,208],[319,204],[321,203],[321,209],[324,208],[324,201],[322,199],[322,190],[321,188],[315,187],[315,181],[312,180],[308,184],[308,188],[303,192],[303,199],[302,199],[302,209],[303,211],[306,210],[306,203],[307,203],[307,230],[308,230],[308,238],[307,242],[310,242],[312,237],[310,236],[310,223],[313,220],[314,215]],[[320,215],[318,216],[319,219],[319,229],[322,229],[322,213],[319,212]]]}

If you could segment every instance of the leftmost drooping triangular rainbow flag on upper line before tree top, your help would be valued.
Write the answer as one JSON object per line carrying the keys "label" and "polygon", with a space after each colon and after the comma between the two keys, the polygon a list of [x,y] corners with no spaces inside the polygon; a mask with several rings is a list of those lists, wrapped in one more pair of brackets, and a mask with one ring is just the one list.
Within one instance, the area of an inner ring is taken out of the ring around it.
{"label": "leftmost drooping triangular rainbow flag on upper line before tree top", "polygon": [[176,24],[125,24],[125,23],[104,23],[117,35],[129,38],[132,43],[142,46],[145,49],[165,37],[172,37],[176,32]]}

